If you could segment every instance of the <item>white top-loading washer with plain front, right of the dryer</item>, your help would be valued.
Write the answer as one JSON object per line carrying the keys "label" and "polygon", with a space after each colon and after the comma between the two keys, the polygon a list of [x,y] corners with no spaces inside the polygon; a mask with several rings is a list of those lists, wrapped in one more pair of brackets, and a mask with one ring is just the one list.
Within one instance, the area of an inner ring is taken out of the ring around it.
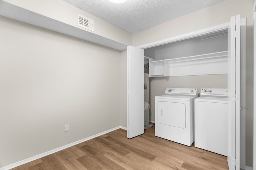
{"label": "white top-loading washer with plain front, right of the dryer", "polygon": [[202,88],[195,99],[195,147],[227,156],[228,90]]}

